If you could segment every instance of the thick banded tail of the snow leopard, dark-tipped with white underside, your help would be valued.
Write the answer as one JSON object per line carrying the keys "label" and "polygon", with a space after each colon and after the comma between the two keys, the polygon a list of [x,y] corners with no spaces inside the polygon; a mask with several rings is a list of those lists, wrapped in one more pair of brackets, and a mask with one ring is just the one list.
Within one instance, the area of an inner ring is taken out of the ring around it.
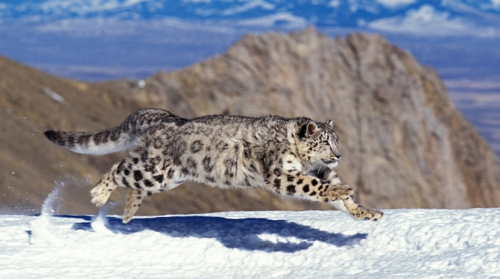
{"label": "thick banded tail of the snow leopard, dark-tipped with white underside", "polygon": [[75,153],[104,155],[133,148],[139,144],[146,130],[161,122],[178,122],[183,119],[166,110],[145,109],[129,115],[120,126],[92,132],[47,130],[50,141]]}

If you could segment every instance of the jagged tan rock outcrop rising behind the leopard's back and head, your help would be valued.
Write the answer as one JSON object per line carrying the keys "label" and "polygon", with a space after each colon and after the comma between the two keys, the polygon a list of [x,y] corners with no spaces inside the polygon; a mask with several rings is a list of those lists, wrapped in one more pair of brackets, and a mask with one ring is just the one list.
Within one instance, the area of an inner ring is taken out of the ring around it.
{"label": "jagged tan rock outcrop rising behind the leopard's back and head", "polygon": [[146,96],[186,117],[217,113],[334,119],[344,179],[370,207],[500,205],[496,155],[438,74],[377,35],[313,28],[248,35],[223,56],[159,73]]}

